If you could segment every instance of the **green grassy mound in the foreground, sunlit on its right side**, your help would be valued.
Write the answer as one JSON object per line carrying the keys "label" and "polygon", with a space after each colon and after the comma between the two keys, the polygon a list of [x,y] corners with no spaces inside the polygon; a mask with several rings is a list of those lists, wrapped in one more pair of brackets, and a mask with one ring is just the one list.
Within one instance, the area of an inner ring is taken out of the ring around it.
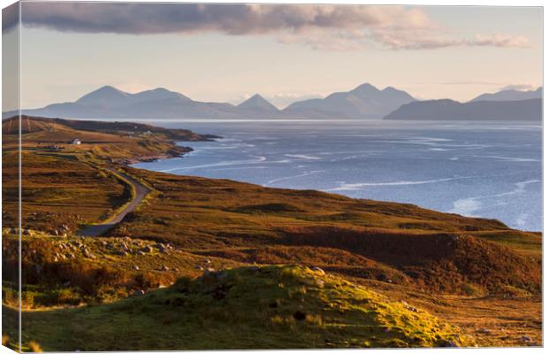
{"label": "green grassy mound in the foreground, sunlit on its right side", "polygon": [[62,351],[474,345],[427,312],[302,266],[182,278],[116,304],[24,314],[23,324],[27,341]]}

